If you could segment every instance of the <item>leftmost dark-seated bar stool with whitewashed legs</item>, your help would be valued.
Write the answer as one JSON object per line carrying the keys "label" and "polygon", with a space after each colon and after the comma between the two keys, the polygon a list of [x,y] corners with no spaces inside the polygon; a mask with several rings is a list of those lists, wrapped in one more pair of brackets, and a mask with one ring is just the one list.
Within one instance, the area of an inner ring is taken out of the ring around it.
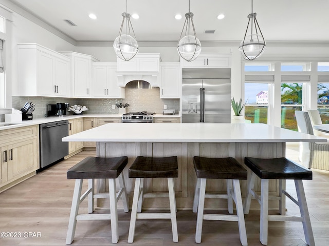
{"label": "leftmost dark-seated bar stool with whitewashed legs", "polygon": [[[86,157],[77,165],[67,170],[68,179],[76,179],[74,194],[72,198],[71,214],[68,223],[66,244],[71,244],[77,226],[77,220],[111,220],[112,242],[117,243],[119,240],[118,233],[118,213],[117,201],[122,198],[124,212],[129,212],[128,198],[125,189],[122,170],[127,165],[126,156],[101,158]],[[108,179],[108,193],[94,193],[94,179]],[[116,192],[116,178],[119,180],[120,190]],[[83,179],[88,179],[88,189],[81,196]],[[80,203],[88,196],[88,213],[78,214]],[[94,212],[94,198],[109,198],[109,214],[92,214]]]}

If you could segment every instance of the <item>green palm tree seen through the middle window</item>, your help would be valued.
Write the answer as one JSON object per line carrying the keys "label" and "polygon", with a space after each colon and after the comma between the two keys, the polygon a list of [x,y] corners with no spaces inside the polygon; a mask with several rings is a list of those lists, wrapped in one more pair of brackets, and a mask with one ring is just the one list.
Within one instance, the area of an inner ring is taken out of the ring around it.
{"label": "green palm tree seen through the middle window", "polygon": [[[284,91],[284,92],[283,92]],[[281,103],[293,101],[295,104],[302,103],[303,86],[298,83],[282,83],[281,84]]]}

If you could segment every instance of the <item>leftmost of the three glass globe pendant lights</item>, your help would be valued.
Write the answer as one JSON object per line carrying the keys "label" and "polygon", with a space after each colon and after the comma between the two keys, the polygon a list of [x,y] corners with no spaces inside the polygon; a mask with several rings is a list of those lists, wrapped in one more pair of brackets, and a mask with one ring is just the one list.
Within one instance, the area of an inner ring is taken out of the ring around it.
{"label": "leftmost of the three glass globe pendant lights", "polygon": [[[122,16],[123,19],[119,36],[117,36],[114,40],[113,48],[120,59],[130,60],[138,53],[138,44],[132,23],[130,21],[130,14],[127,13],[127,0],[125,1],[125,12],[122,13]],[[122,34],[123,27],[125,27],[125,33]]]}

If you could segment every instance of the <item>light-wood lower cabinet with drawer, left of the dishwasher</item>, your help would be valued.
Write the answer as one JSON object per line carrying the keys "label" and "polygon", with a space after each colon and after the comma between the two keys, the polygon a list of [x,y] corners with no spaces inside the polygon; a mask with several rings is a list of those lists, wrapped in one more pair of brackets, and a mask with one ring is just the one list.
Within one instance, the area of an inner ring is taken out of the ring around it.
{"label": "light-wood lower cabinet with drawer, left of the dishwasher", "polygon": [[39,125],[0,132],[0,191],[39,169]]}

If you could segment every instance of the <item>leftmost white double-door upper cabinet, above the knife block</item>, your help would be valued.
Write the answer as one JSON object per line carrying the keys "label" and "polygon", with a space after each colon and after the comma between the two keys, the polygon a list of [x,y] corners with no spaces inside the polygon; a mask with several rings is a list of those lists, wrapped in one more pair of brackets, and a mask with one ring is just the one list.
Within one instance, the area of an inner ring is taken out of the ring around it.
{"label": "leftmost white double-door upper cabinet, above the knife block", "polygon": [[17,46],[20,96],[70,96],[68,57],[38,44]]}

